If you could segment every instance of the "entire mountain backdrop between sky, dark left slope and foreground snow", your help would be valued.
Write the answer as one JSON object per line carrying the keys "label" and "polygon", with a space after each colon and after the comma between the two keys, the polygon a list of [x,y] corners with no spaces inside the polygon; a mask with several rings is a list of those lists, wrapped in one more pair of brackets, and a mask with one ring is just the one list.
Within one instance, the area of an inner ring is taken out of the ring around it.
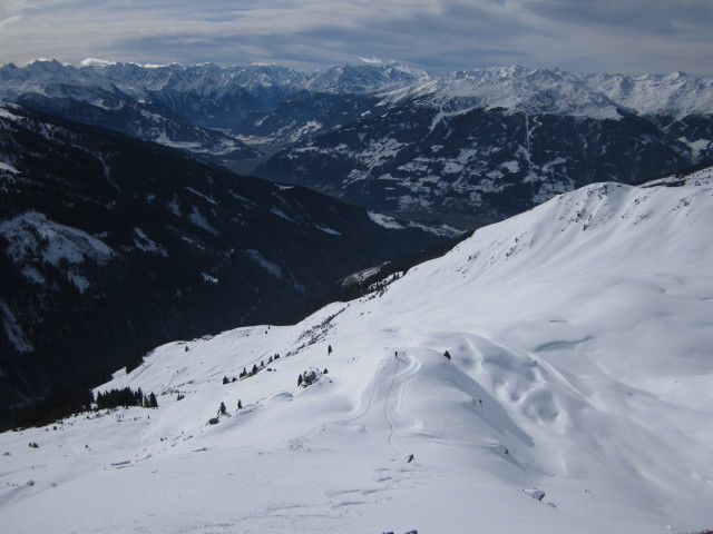
{"label": "entire mountain backdrop between sky, dark left slope and foreground snow", "polygon": [[0,68],[0,98],[463,226],[594,181],[713,162],[713,78],[682,72],[36,61]]}

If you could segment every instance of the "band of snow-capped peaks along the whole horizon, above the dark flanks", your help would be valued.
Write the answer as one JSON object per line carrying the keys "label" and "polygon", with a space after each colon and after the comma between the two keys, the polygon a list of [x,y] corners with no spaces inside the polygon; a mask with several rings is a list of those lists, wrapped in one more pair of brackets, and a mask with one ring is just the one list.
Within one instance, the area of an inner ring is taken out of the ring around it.
{"label": "band of snow-capped peaks along the whole horizon, above the dark flanks", "polygon": [[[428,97],[450,106],[505,108],[512,111],[568,113],[617,118],[617,108],[641,115],[683,117],[713,112],[713,77],[683,72],[631,77],[577,73],[559,69],[522,67],[473,69],[429,75],[398,63],[333,67],[325,72],[303,72],[280,66],[221,67],[214,63],[139,66],[99,60],[79,68],[53,60],[33,61],[23,68],[0,68],[0,98],[43,92],[56,85],[115,88],[137,99],[152,91],[182,91],[215,98],[242,88],[253,95],[301,90],[382,93],[384,102]],[[455,103],[460,102],[460,103]]]}

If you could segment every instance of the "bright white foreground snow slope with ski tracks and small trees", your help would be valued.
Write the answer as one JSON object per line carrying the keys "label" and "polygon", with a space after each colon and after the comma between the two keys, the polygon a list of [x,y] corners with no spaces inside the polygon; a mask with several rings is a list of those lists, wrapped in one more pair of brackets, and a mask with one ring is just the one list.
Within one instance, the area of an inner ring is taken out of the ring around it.
{"label": "bright white foreground snow slope with ski tracks and small trees", "polygon": [[712,175],[594,185],[296,326],[157,348],[100,389],[158,409],[0,435],[2,532],[713,527]]}

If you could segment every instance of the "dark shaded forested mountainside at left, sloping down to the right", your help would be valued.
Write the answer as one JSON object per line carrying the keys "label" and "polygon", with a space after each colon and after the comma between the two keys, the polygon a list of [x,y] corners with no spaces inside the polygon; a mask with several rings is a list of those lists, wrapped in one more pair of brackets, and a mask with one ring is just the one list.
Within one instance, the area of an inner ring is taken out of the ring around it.
{"label": "dark shaded forested mountainside at left, sloping down to the right", "polygon": [[0,125],[3,406],[284,315],[439,239],[37,111],[0,108]]}

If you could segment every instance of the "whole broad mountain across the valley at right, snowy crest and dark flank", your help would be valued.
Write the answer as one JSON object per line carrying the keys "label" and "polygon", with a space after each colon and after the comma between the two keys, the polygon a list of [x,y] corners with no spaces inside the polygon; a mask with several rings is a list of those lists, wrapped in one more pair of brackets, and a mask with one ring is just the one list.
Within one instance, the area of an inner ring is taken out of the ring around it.
{"label": "whole broad mountain across the valley at right, snowy crest and dark flank", "polygon": [[255,174],[370,209],[458,214],[478,226],[587,184],[637,184],[713,161],[713,80],[681,72],[492,68],[370,97],[351,115],[282,105],[254,128],[242,125],[262,138],[272,127],[292,144]]}

